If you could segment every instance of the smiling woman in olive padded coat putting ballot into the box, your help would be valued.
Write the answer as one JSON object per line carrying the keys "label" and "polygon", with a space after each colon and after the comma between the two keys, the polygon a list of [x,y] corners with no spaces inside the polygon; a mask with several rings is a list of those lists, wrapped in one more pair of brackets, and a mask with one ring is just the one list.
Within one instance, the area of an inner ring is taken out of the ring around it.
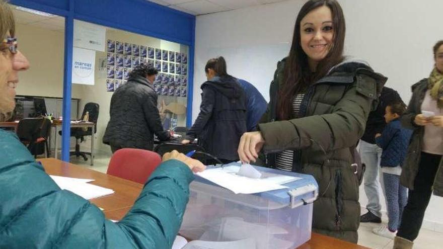
{"label": "smiling woman in olive padded coat putting ballot into the box", "polygon": [[386,77],[343,56],[345,21],[335,0],[300,10],[289,55],[277,64],[259,131],[243,134],[242,161],[310,174],[319,184],[313,230],[357,242],[360,204],[354,146]]}

